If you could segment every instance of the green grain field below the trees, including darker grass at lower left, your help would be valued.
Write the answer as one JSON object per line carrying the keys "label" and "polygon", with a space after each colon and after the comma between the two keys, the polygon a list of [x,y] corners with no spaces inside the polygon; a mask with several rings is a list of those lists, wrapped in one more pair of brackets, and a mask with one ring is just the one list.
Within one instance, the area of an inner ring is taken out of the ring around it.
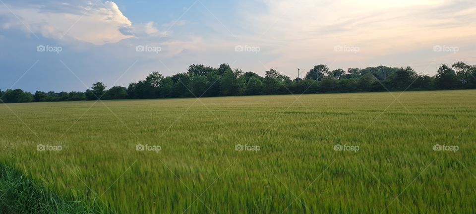
{"label": "green grain field below the trees, including darker grass at lower left", "polygon": [[0,106],[1,213],[476,213],[476,91]]}

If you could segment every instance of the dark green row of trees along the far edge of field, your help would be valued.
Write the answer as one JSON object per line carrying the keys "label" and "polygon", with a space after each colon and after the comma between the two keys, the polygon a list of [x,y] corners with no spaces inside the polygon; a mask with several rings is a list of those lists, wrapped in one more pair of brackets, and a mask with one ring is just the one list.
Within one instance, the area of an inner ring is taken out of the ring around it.
{"label": "dark green row of trees along the far edge of field", "polygon": [[476,65],[459,61],[451,66],[438,68],[435,76],[420,75],[408,67],[366,67],[330,70],[327,65],[316,65],[303,79],[280,74],[275,69],[266,71],[264,77],[232,69],[228,64],[218,68],[190,65],[187,72],[165,77],[159,72],[149,74],[145,80],[114,86],[106,90],[101,83],[94,83],[85,92],[37,91],[35,94],[21,89],[0,90],[0,102],[56,102],[114,99],[155,99],[218,97],[244,95],[284,95],[346,92],[377,92],[404,90],[476,89]]}

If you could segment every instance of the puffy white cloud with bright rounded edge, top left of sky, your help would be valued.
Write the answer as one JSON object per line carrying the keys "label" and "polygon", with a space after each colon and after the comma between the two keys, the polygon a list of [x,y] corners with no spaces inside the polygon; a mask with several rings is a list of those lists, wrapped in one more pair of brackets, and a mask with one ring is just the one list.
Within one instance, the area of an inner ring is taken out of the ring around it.
{"label": "puffy white cloud with bright rounded edge, top left of sky", "polygon": [[[133,26],[112,1],[81,2],[79,5],[47,1],[51,5],[1,7],[7,17],[2,28],[20,28],[58,40],[78,40],[95,45],[116,43],[133,37]],[[10,11],[11,10],[11,11]]]}

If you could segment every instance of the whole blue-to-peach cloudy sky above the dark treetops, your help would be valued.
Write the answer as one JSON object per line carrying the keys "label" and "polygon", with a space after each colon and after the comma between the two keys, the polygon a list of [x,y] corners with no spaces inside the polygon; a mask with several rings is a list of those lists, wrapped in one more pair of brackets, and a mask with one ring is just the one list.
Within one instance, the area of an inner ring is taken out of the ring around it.
{"label": "whole blue-to-peach cloudy sky above the dark treetops", "polygon": [[475,0],[0,0],[0,90],[85,91],[191,64],[297,77],[476,64]]}

